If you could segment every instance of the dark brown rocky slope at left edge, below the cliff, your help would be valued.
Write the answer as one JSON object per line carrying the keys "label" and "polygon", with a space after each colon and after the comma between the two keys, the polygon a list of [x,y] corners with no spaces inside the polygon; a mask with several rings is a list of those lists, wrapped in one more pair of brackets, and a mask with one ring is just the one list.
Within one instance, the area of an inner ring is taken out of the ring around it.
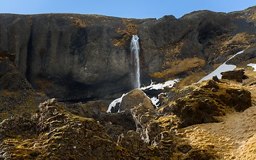
{"label": "dark brown rocky slope at left edge, below the cliff", "polygon": [[0,54],[0,121],[16,114],[35,113],[36,106],[47,99],[33,89],[11,59],[9,53]]}

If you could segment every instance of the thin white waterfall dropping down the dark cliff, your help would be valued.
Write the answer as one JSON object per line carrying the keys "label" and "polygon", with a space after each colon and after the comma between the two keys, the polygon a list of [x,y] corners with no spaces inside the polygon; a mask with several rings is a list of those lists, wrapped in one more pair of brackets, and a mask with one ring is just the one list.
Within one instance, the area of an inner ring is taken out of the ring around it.
{"label": "thin white waterfall dropping down the dark cliff", "polygon": [[141,87],[139,72],[139,37],[133,35],[131,39],[131,66],[133,69],[134,88]]}

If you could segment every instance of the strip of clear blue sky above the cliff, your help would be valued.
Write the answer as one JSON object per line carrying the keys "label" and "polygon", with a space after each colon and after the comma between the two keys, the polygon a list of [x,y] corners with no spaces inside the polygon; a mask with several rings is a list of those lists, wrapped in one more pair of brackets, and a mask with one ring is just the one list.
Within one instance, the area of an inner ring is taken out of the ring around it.
{"label": "strip of clear blue sky above the cliff", "polygon": [[256,5],[256,0],[2,0],[0,13],[81,13],[126,18],[160,18],[198,10],[240,11]]}

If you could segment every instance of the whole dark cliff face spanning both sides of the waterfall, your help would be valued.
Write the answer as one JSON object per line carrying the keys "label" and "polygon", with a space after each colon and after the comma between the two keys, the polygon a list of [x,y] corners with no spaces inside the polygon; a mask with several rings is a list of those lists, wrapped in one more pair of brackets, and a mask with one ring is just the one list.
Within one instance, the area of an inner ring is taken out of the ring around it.
{"label": "whole dark cliff face spanning both sides of the waterfall", "polygon": [[253,11],[197,11],[180,19],[1,14],[0,51],[15,54],[19,71],[49,97],[111,101],[133,88],[131,35],[139,35],[142,83],[193,83],[254,44]]}

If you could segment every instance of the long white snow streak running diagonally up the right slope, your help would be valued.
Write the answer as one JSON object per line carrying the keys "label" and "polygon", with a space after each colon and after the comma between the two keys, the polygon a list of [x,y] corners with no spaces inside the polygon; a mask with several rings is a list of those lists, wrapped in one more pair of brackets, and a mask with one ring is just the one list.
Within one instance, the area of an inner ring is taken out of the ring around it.
{"label": "long white snow streak running diagonally up the right slope", "polygon": [[[231,58],[227,59],[227,61],[229,61],[230,59],[233,59],[233,57],[235,57],[236,55],[239,55],[243,53],[243,51],[239,51],[238,53],[236,53],[235,55],[233,55]],[[200,81],[198,81],[198,83],[200,83],[201,81],[205,81],[207,79],[211,79],[213,76],[217,75],[217,77],[219,79],[221,79],[221,72],[225,72],[225,71],[233,71],[237,66],[235,65],[227,65],[227,61],[225,61],[225,63],[223,63],[222,65],[220,65],[219,67],[217,67],[217,69],[215,69],[212,73],[210,73],[209,75],[203,77]]]}

